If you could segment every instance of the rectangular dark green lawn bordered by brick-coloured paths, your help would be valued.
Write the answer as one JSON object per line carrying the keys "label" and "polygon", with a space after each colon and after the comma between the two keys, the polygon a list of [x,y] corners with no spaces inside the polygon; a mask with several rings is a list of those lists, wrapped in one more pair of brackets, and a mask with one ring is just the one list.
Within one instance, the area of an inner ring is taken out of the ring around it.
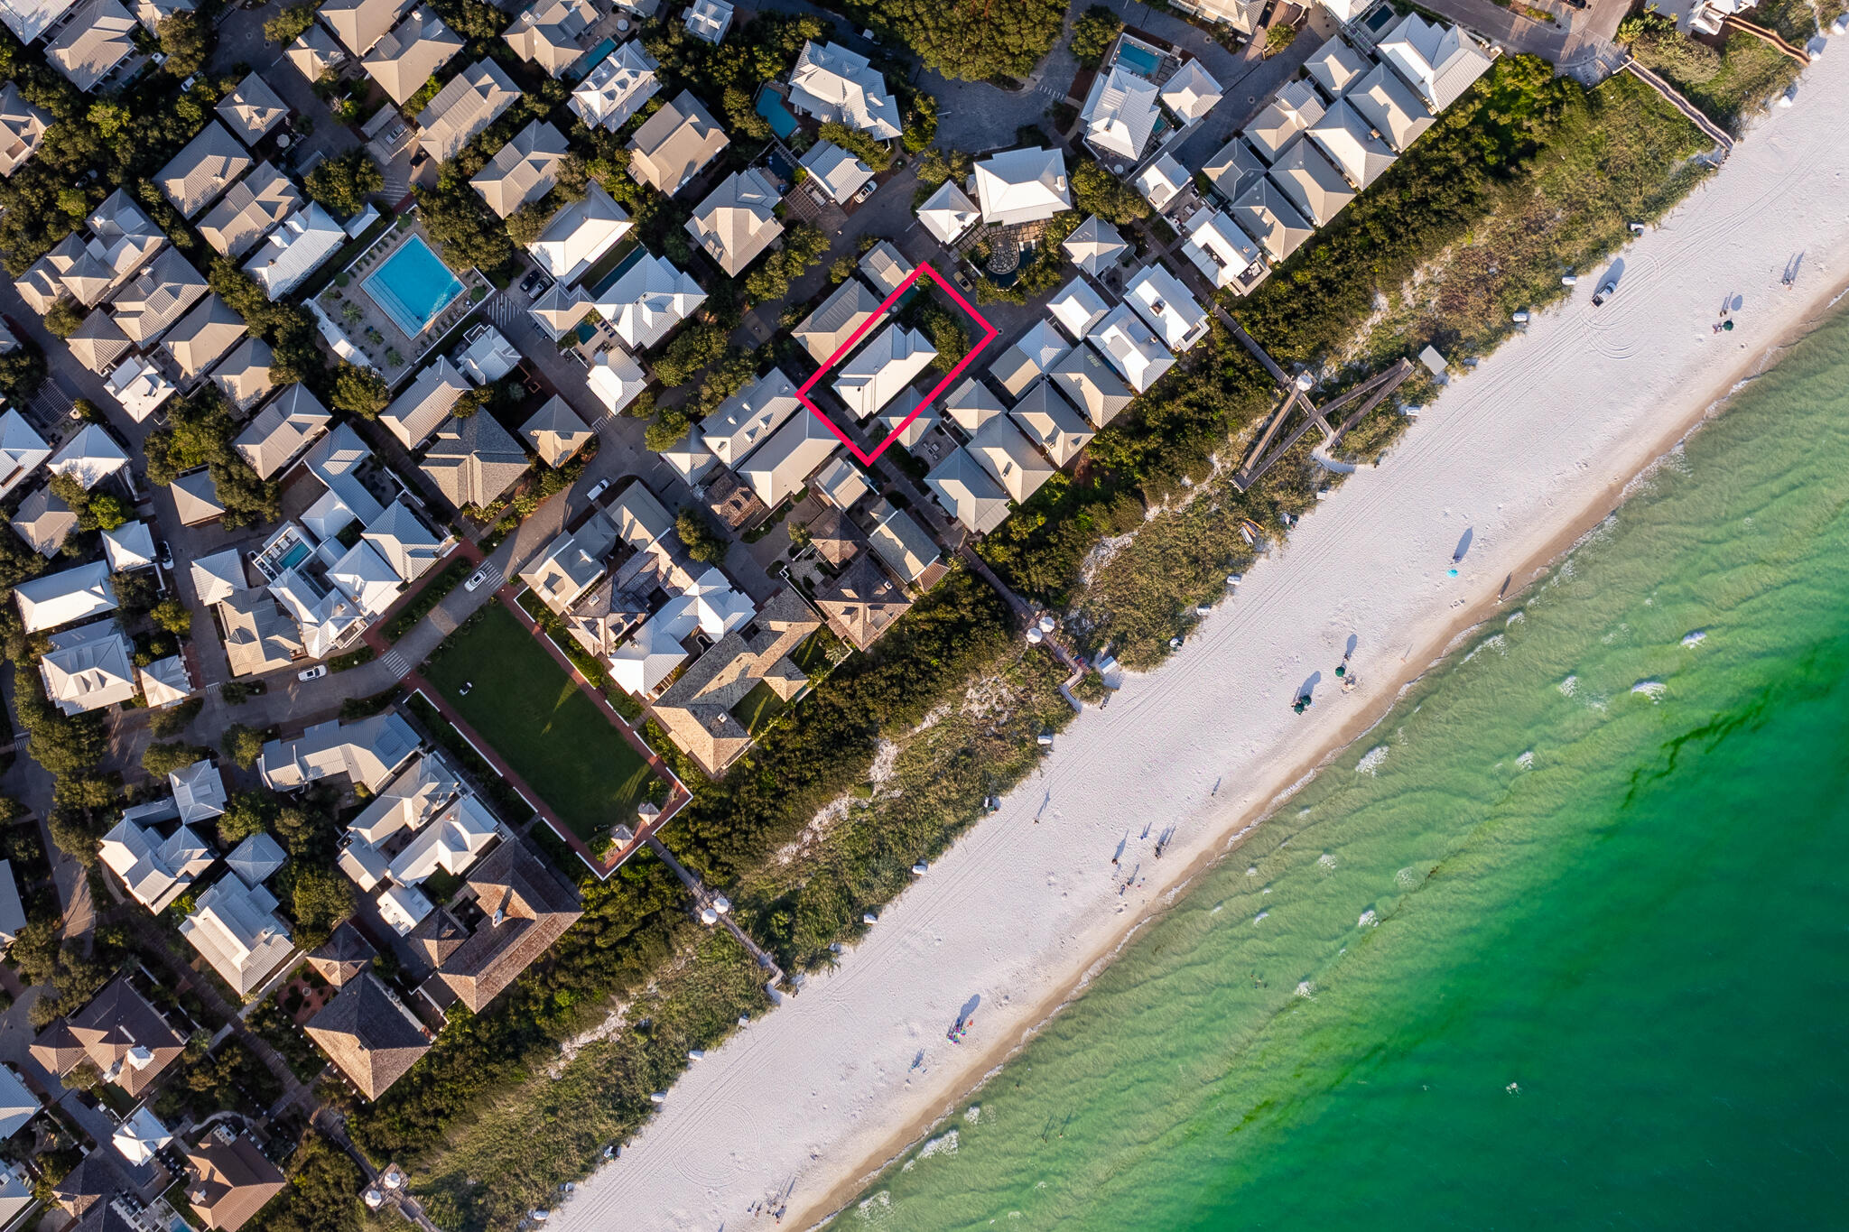
{"label": "rectangular dark green lawn bordered by brick-coloured paths", "polygon": [[[634,826],[649,765],[499,602],[455,632],[425,676],[579,839]],[[475,687],[462,696],[466,680]]]}

